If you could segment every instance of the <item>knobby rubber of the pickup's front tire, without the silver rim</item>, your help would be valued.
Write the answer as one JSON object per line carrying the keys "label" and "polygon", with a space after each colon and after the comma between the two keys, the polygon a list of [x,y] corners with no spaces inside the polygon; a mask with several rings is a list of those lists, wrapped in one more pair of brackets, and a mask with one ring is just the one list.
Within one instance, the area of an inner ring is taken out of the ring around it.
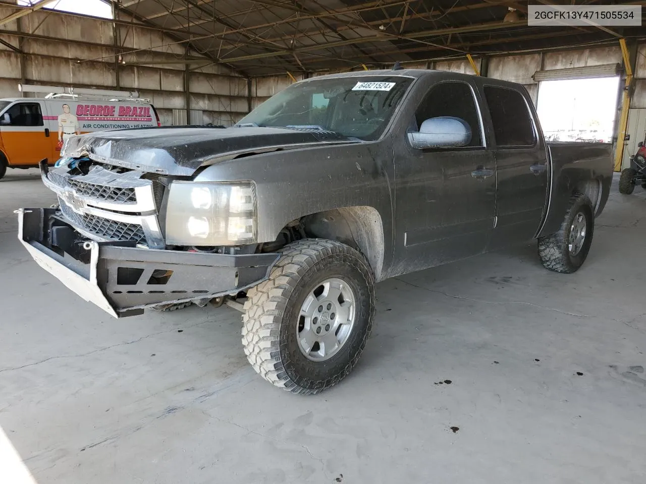
{"label": "knobby rubber of the pickup's front tire, without the silver rim", "polygon": [[[353,290],[355,320],[337,353],[311,361],[298,346],[300,309],[307,295],[330,277]],[[317,394],[348,376],[375,317],[375,280],[366,259],[347,245],[324,239],[287,245],[269,279],[251,288],[247,298],[242,344],[249,363],[269,383],[298,394]]]}

